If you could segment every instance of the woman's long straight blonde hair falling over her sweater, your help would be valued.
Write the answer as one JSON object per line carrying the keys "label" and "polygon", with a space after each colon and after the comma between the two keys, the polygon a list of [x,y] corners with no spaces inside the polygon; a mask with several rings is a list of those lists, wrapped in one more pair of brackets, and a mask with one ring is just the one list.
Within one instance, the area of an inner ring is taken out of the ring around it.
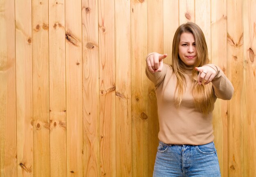
{"label": "woman's long straight blonde hair falling over her sweater", "polygon": [[[195,37],[195,48],[197,51],[197,59],[193,67],[201,67],[209,63],[207,44],[204,38],[204,34],[201,28],[192,23],[187,22],[182,24],[177,28],[175,35],[173,37],[173,53],[172,53],[172,67],[175,75],[177,76],[177,84],[175,89],[175,105],[177,108],[180,107],[184,94],[184,83],[186,79],[182,70],[184,70],[184,63],[181,61],[178,52],[180,44],[180,35],[182,33],[192,33]],[[213,98],[213,89],[211,83],[207,85],[199,85],[198,81],[198,72],[193,70],[192,72],[192,94],[194,99],[195,107],[202,112],[204,115],[208,114],[213,110],[214,98]]]}

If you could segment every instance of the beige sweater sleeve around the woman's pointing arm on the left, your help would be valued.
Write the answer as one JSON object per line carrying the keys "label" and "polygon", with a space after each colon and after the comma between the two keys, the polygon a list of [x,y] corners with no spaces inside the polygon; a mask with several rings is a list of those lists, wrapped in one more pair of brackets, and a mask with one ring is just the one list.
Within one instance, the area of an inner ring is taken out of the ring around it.
{"label": "beige sweater sleeve around the woman's pointing arm on the left", "polygon": [[164,80],[164,77],[165,77],[166,71],[167,71],[167,67],[168,66],[164,63],[163,69],[161,72],[152,73],[152,72],[150,72],[150,70],[148,70],[148,67],[146,66],[146,75],[147,75],[148,79],[153,82],[155,87],[158,87],[160,85],[160,83]]}

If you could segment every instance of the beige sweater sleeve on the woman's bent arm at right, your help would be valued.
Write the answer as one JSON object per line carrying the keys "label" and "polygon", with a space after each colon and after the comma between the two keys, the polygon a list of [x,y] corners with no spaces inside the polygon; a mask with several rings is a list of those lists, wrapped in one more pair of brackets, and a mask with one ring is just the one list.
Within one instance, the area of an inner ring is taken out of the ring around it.
{"label": "beige sweater sleeve on the woman's bent arm at right", "polygon": [[216,76],[211,81],[215,96],[222,100],[230,100],[234,93],[234,87],[232,83],[229,81],[229,79],[227,79],[220,67],[214,64],[208,64],[207,66],[210,66],[216,70]]}

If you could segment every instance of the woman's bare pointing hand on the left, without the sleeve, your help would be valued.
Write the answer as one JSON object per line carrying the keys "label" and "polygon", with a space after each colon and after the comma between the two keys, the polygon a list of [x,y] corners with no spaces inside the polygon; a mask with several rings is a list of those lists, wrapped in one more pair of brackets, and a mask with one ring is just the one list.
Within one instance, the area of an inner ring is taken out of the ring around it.
{"label": "woman's bare pointing hand on the left, without the sleeve", "polygon": [[148,65],[148,70],[150,72],[161,72],[163,68],[164,58],[167,57],[167,54],[159,54],[157,52],[149,53],[146,62]]}

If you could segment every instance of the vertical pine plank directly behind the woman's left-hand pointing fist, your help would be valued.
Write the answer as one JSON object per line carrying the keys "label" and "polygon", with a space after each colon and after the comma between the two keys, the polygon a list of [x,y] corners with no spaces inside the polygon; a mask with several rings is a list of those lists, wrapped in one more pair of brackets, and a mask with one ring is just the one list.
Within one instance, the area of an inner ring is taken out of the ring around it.
{"label": "vertical pine plank directly behind the woman's left-hand pointing fist", "polygon": [[[163,53],[163,0],[148,1],[148,53]],[[152,13],[155,12],[155,13]],[[158,146],[159,123],[153,83],[148,87],[148,175],[153,175]]]}

